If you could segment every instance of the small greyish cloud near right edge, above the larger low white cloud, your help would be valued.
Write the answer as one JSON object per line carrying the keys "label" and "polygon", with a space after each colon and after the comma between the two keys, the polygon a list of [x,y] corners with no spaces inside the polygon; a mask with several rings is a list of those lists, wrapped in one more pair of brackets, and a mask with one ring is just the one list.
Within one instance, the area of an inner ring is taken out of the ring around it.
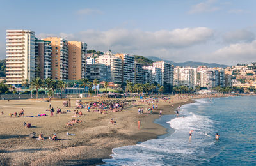
{"label": "small greyish cloud near right edge, above the larger low white cloud", "polygon": [[223,40],[226,43],[250,42],[250,41],[253,41],[254,39],[255,39],[255,34],[246,29],[230,31],[223,35]]}

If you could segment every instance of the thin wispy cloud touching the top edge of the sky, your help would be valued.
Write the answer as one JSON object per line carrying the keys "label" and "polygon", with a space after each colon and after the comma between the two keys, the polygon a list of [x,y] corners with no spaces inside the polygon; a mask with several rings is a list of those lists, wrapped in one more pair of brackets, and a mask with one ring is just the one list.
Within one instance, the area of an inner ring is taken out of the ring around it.
{"label": "thin wispy cloud touching the top edge of the sky", "polygon": [[202,3],[191,6],[190,14],[205,13],[220,10],[220,7],[214,6],[216,0],[207,0]]}

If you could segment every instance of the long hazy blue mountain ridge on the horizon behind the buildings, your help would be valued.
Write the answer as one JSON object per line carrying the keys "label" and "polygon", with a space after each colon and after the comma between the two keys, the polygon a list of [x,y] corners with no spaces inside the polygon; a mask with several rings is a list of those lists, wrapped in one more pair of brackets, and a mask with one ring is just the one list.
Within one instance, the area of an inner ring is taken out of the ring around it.
{"label": "long hazy blue mountain ridge on the horizon behind the buildings", "polygon": [[225,64],[202,63],[202,62],[193,62],[193,61],[186,61],[184,63],[175,63],[173,61],[160,59],[159,57],[155,57],[155,56],[148,56],[147,59],[151,59],[152,61],[164,61],[166,63],[170,63],[170,64],[173,64],[174,66],[180,66],[180,67],[184,67],[184,66],[190,66],[193,68],[196,68],[198,66],[208,66],[210,68],[214,68],[214,67],[227,68],[228,67],[228,65],[225,65]]}

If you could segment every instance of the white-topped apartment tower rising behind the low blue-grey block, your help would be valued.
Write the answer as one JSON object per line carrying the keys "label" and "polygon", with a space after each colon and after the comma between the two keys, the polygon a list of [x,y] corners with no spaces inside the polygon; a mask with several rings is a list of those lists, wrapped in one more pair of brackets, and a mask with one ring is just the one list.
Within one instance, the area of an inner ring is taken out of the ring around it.
{"label": "white-topped apartment tower rising behind the low blue-grey block", "polygon": [[99,56],[96,61],[97,63],[110,66],[111,82],[122,83],[122,60],[119,57],[108,51],[104,55]]}

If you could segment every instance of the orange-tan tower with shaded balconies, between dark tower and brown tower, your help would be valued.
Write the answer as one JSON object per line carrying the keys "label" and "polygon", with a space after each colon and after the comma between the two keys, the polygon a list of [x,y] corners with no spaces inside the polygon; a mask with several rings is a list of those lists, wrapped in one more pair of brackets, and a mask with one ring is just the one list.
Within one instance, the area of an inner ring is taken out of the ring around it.
{"label": "orange-tan tower with shaded balconies, between dark tower and brown tower", "polygon": [[58,37],[42,40],[51,41],[51,79],[68,80],[68,41]]}

